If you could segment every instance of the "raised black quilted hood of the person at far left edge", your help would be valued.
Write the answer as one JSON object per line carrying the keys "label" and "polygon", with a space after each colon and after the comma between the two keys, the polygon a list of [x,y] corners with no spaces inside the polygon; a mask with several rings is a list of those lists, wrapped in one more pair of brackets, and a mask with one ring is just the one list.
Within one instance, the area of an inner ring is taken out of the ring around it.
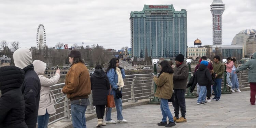
{"label": "raised black quilted hood of the person at far left edge", "polygon": [[15,66],[4,66],[0,68],[0,89],[2,94],[13,88],[20,88],[24,81],[25,72]]}

